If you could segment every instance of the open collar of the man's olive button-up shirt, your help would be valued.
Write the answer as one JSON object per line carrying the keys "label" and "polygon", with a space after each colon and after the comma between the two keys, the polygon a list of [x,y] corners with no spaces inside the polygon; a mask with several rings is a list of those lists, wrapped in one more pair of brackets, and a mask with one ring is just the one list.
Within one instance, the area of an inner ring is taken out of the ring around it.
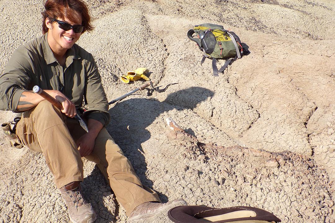
{"label": "open collar of the man's olive button-up shirt", "polygon": [[[44,52],[44,59],[47,64],[52,64],[57,62],[54,53],[52,52],[50,45],[48,43],[48,32],[42,36],[41,45]],[[66,66],[70,66],[73,60],[80,59],[78,50],[74,50],[73,46],[66,52]]]}

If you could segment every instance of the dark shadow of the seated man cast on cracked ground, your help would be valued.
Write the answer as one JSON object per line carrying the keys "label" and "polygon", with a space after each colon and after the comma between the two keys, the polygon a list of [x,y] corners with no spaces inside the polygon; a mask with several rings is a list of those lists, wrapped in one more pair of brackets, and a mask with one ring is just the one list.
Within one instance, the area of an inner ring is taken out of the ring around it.
{"label": "dark shadow of the seated man cast on cracked ground", "polygon": [[[199,103],[212,98],[214,92],[191,87],[171,93],[160,102],[157,99],[123,99],[110,108],[111,122],[107,129],[115,142],[132,163],[141,182],[152,188],[153,182],[147,179],[147,163],[145,161],[142,143],[150,139],[151,133],[146,129],[162,113],[173,109],[194,109]],[[189,130],[193,132],[193,130]],[[153,188],[154,190],[154,188]],[[168,198],[156,191],[162,202]]]}

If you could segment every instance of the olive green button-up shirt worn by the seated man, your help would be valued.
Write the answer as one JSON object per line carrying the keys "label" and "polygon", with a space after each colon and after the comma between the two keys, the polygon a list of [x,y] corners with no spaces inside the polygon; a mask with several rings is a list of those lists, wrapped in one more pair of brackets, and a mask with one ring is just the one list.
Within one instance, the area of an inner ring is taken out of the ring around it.
{"label": "olive green button-up shirt worn by the seated man", "polygon": [[47,40],[48,33],[18,47],[0,76],[0,109],[17,111],[22,92],[35,85],[58,90],[79,109],[89,108],[87,118],[110,121],[108,101],[92,54],[74,44],[66,52],[65,66],[59,65]]}

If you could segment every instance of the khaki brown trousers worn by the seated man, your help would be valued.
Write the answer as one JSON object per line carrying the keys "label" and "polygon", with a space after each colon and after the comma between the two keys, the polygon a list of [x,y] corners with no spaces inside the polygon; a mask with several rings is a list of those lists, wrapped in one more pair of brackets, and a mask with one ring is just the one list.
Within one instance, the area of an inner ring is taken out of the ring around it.
{"label": "khaki brown trousers worn by the seated man", "polygon": [[[25,111],[16,126],[16,135],[24,145],[44,154],[57,188],[83,181],[83,162],[75,140],[84,133],[78,121],[48,101]],[[142,185],[106,128],[99,132],[92,153],[85,158],[97,163],[128,216],[139,204],[160,201],[154,191]]]}

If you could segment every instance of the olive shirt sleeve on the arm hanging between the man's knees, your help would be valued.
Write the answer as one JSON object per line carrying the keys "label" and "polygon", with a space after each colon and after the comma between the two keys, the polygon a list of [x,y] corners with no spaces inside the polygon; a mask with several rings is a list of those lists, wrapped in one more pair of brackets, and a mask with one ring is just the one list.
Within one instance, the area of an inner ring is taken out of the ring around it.
{"label": "olive shirt sleeve on the arm hanging between the man's knees", "polygon": [[100,74],[96,63],[91,57],[86,67],[87,79],[85,85],[85,104],[88,106],[87,118],[95,119],[103,124],[108,125],[110,121],[110,114],[108,112],[108,101],[105,90],[101,83]]}

